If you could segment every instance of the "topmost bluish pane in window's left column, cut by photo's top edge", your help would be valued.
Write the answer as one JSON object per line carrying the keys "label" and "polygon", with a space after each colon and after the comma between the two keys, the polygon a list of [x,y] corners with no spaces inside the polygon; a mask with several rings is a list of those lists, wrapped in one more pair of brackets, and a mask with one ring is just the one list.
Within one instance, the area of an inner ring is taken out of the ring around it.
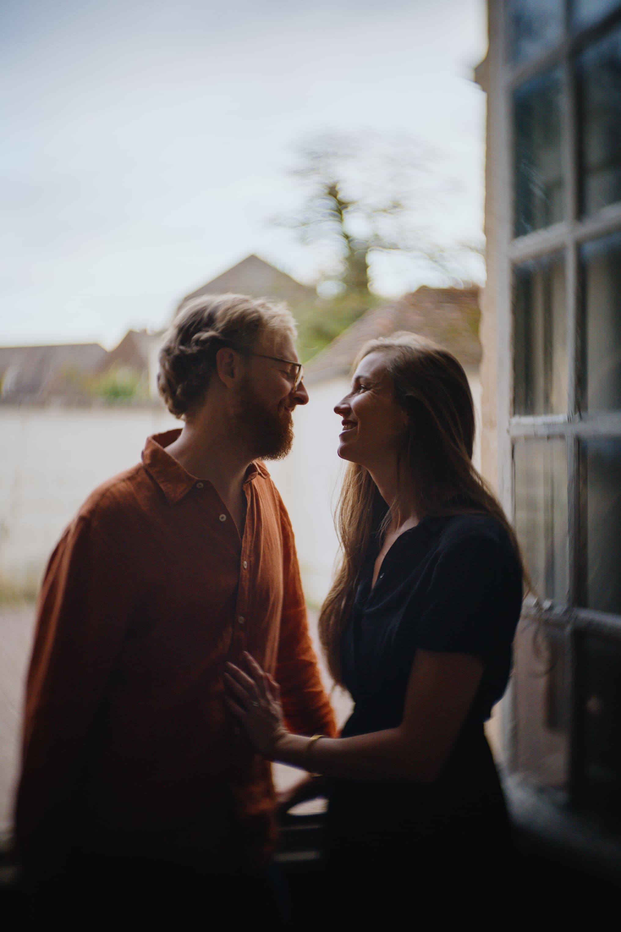
{"label": "topmost bluish pane in window's left column, cut by photo's top edge", "polygon": [[513,62],[526,62],[560,42],[563,6],[562,0],[510,0],[509,48]]}

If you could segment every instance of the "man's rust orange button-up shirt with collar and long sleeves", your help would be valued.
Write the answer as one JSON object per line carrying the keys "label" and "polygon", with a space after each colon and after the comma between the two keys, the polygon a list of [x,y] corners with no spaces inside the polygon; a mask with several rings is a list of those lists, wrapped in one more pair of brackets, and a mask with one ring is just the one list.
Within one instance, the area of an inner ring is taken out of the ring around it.
{"label": "man's rust orange button-up shirt with collar and long sleeves", "polygon": [[306,624],[289,517],[250,466],[240,540],[214,487],[149,438],[98,488],[43,583],[28,676],[18,843],[72,845],[236,870],[274,839],[270,765],[223,699],[250,651],[297,733],[334,733]]}

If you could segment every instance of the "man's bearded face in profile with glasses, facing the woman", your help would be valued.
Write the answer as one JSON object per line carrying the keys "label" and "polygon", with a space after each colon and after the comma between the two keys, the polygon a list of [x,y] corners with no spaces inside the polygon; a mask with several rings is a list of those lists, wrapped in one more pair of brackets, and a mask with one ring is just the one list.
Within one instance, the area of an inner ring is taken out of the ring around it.
{"label": "man's bearded face in profile with glasses, facing the woman", "polygon": [[259,337],[253,353],[236,394],[234,420],[253,459],[283,459],[293,443],[293,408],[306,404],[308,395],[303,383],[293,387],[290,365],[265,357],[295,363],[298,355],[290,334],[270,332]]}

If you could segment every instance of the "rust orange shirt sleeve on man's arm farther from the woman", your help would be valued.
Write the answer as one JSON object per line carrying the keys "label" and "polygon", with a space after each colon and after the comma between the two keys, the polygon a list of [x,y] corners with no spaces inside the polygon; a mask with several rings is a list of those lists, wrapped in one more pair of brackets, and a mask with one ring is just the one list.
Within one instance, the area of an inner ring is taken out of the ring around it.
{"label": "rust orange shirt sleeve on man's arm farther from the woman", "polygon": [[26,685],[16,833],[22,864],[61,860],[88,740],[131,611],[115,554],[79,516],[52,554],[42,585]]}

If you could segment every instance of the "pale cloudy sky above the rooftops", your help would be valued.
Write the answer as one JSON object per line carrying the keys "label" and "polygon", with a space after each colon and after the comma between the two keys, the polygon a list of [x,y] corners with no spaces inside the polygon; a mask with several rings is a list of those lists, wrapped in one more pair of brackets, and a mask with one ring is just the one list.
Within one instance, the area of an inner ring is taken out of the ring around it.
{"label": "pale cloudy sky above the rooftops", "polygon": [[[165,325],[255,253],[301,281],[317,254],[270,224],[303,197],[296,145],[412,139],[421,222],[480,240],[484,0],[3,0],[0,345]],[[423,269],[379,263],[375,290]]]}

